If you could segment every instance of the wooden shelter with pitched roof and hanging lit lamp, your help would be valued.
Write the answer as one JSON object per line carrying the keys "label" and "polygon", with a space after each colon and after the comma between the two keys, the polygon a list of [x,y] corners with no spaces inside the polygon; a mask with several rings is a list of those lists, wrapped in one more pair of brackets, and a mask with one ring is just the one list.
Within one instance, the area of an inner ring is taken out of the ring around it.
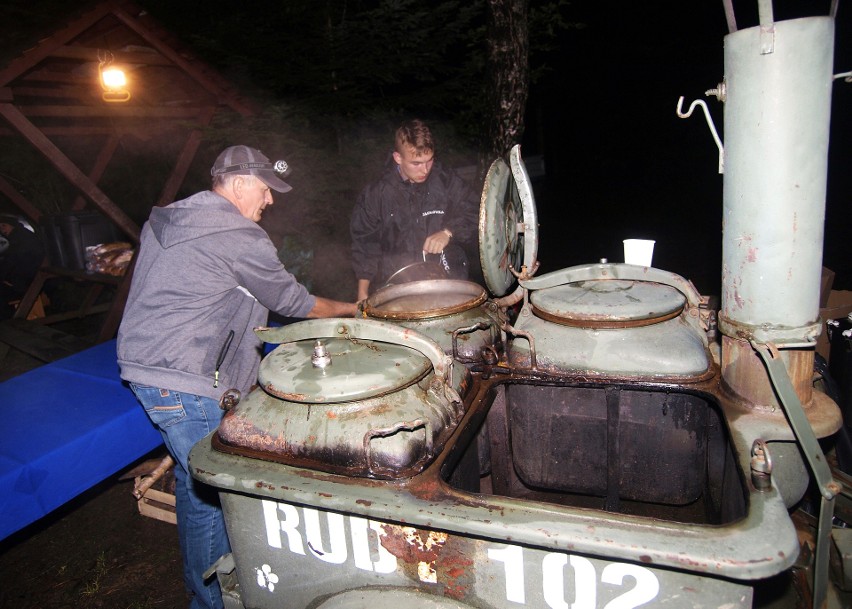
{"label": "wooden shelter with pitched roof and hanging lit lamp", "polygon": [[[101,73],[109,67],[123,69],[127,84],[102,85]],[[203,129],[218,112],[247,116],[253,108],[233,85],[182,49],[145,10],[123,0],[95,5],[0,69],[0,115],[6,123],[0,121],[0,141],[6,150],[11,146],[37,151],[46,167],[72,186],[73,196],[59,211],[98,210],[133,244],[138,242],[139,224],[120,204],[120,192],[113,189],[111,197],[99,185],[116,163],[124,162],[117,153],[145,142],[155,146],[169,169],[151,203],[168,204],[184,181]],[[161,140],[156,139],[158,134]],[[44,206],[30,198],[20,182],[4,177],[10,175],[8,169],[0,170],[0,196],[39,223]],[[44,281],[58,276],[95,286],[117,284],[98,337],[111,338],[121,318],[130,272],[116,280],[45,266],[22,299],[16,318],[26,318]],[[76,312],[81,313],[85,314]]]}

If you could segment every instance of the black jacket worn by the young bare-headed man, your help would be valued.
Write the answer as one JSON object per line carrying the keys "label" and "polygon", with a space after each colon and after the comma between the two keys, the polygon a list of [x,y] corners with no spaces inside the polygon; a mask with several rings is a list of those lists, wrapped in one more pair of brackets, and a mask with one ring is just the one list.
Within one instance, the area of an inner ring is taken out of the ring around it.
{"label": "black jacket worn by the young bare-headed man", "polygon": [[436,162],[426,181],[414,184],[394,164],[364,189],[352,212],[355,277],[381,287],[397,270],[422,262],[426,237],[444,228],[453,234],[451,245],[476,251],[478,223],[479,197],[456,172]]}

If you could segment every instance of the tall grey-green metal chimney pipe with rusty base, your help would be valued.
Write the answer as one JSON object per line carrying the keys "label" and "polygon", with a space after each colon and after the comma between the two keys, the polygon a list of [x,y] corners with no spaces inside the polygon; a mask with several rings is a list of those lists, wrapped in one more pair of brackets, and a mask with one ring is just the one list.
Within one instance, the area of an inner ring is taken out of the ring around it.
{"label": "tall grey-green metal chimney pipe with rusty base", "polygon": [[[839,424],[812,391],[828,171],[834,19],[774,22],[725,37],[722,377],[757,409],[777,398],[751,341],[779,349],[818,436]],[[822,404],[822,405],[820,405]],[[814,416],[824,410],[826,416]]]}

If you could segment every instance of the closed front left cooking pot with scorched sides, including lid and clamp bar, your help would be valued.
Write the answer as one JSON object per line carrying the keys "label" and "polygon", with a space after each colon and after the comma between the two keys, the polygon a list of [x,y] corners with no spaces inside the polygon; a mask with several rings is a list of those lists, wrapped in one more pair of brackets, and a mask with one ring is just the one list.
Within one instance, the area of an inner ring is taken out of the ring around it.
{"label": "closed front left cooking pot with scorched sides, including lid and clamp bar", "polygon": [[408,477],[440,452],[470,375],[434,341],[373,320],[256,330],[280,343],[260,387],[213,437],[222,452],[371,478]]}

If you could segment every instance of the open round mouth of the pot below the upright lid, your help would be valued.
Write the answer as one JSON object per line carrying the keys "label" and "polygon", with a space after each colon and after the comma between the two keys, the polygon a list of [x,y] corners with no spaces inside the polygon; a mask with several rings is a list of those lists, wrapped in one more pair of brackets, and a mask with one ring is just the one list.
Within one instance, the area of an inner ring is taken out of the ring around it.
{"label": "open round mouth of the pot below the upright lid", "polygon": [[367,298],[364,313],[377,319],[432,319],[478,307],[486,296],[472,281],[412,281],[376,290]]}

